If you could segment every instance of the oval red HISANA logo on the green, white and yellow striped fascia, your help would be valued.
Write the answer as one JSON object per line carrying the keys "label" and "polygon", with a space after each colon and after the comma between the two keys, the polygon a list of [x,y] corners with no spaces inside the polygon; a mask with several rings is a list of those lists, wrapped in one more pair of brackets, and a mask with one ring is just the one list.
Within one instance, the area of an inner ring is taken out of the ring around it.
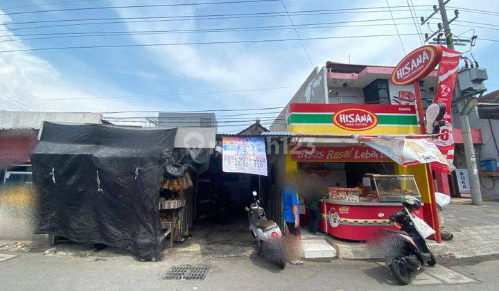
{"label": "oval red HISANA logo on the green, white and yellow striped fascia", "polygon": [[344,130],[369,130],[378,124],[378,116],[365,109],[343,109],[333,115],[333,123]]}

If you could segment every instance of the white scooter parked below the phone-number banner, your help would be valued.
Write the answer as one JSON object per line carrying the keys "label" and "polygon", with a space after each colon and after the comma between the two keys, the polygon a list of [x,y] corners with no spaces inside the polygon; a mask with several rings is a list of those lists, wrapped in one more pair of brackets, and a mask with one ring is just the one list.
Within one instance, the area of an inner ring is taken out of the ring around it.
{"label": "white scooter parked below the phone-number banner", "polygon": [[[253,191],[254,203],[249,205],[249,208],[246,207],[246,211],[248,212],[249,219],[249,231],[251,231],[253,238],[256,240],[256,243],[259,245],[259,254],[261,250],[265,247],[265,244],[275,243],[274,248],[277,246],[279,248],[279,240],[282,237],[281,229],[277,223],[272,220],[267,220],[267,216],[265,215],[265,210],[260,206],[260,200],[256,199],[258,193]],[[279,250],[274,250],[279,251]],[[283,256],[274,255],[272,258],[277,266],[281,269],[286,267],[286,260]]]}

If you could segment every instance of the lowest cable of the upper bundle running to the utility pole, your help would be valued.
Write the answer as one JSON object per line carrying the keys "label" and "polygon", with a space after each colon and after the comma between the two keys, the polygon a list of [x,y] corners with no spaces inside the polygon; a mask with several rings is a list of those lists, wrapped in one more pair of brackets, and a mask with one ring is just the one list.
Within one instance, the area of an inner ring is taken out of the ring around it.
{"label": "lowest cable of the upper bundle running to the utility pole", "polygon": [[[403,33],[399,35],[417,35],[417,33]],[[349,36],[335,36],[335,37],[306,37],[303,40],[320,40],[320,39],[348,39],[348,38],[362,38],[362,37],[392,37],[397,36],[394,34],[384,34],[384,35],[349,35]],[[287,39],[250,39],[250,40],[232,40],[232,41],[220,41],[220,42],[173,42],[173,43],[163,43],[163,44],[107,44],[99,46],[55,46],[47,48],[22,48],[14,49],[9,51],[0,51],[0,53],[17,53],[24,51],[53,51],[60,49],[81,49],[81,48],[122,48],[122,47],[140,47],[140,46],[189,46],[198,44],[249,44],[249,43],[259,43],[259,42],[292,42],[297,41],[297,38],[287,38]]]}

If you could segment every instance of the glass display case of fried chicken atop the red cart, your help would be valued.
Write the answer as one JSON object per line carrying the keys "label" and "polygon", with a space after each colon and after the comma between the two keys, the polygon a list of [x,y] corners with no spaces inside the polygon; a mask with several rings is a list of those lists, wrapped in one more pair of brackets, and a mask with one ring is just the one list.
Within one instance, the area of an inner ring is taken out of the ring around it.
{"label": "glass display case of fried chicken atop the red cart", "polygon": [[[367,175],[371,183],[371,191],[376,191],[379,202],[400,202],[405,195],[418,197],[419,189],[413,175]],[[374,187],[372,187],[374,184]]]}

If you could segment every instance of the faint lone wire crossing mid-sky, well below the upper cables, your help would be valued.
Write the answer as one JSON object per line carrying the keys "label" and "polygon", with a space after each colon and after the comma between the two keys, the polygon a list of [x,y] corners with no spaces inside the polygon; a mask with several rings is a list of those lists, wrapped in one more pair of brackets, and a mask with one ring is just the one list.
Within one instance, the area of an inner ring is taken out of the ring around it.
{"label": "faint lone wire crossing mid-sky, well below the upper cables", "polygon": [[27,101],[61,101],[61,100],[92,100],[92,99],[121,99],[121,98],[155,98],[166,96],[189,96],[189,95],[207,95],[207,94],[229,94],[229,93],[243,93],[254,91],[268,91],[277,89],[291,89],[300,86],[283,86],[271,88],[257,88],[257,89],[238,89],[238,90],[225,90],[225,91],[202,91],[202,92],[188,92],[188,93],[169,93],[169,94],[152,94],[152,95],[126,95],[126,96],[96,96],[96,97],[71,97],[71,98],[40,98],[40,99],[23,99],[21,102]]}

